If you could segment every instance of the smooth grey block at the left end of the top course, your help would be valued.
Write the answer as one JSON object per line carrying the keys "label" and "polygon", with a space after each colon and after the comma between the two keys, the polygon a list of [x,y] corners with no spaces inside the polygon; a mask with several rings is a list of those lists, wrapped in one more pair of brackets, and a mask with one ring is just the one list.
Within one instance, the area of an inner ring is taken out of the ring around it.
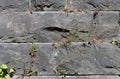
{"label": "smooth grey block at the left end of the top course", "polygon": [[0,12],[2,11],[27,11],[27,0],[0,0]]}

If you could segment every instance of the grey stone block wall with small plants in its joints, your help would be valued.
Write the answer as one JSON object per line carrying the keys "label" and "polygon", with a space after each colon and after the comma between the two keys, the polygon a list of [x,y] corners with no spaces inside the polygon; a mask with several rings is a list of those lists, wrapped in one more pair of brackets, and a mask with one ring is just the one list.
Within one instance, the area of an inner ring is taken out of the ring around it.
{"label": "grey stone block wall with small plants in its joints", "polygon": [[[59,44],[72,30],[77,37],[73,34],[67,46]],[[105,42],[87,43],[94,38]],[[61,79],[54,72],[61,61],[56,70],[59,75],[66,70],[67,79],[119,79],[120,47],[112,39],[120,40],[120,0],[0,0],[0,64],[16,65],[18,75],[24,65],[17,59],[29,61],[35,42],[36,79]],[[76,71],[78,77],[69,77]]]}

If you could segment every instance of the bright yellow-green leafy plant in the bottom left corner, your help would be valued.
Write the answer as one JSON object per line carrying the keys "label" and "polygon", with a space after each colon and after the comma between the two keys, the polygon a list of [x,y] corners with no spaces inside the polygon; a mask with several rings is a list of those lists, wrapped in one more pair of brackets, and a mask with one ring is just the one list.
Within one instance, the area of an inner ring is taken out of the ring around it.
{"label": "bright yellow-green leafy plant in the bottom left corner", "polygon": [[15,69],[11,68],[8,72],[8,66],[6,64],[2,64],[0,66],[0,79],[10,79],[15,73]]}

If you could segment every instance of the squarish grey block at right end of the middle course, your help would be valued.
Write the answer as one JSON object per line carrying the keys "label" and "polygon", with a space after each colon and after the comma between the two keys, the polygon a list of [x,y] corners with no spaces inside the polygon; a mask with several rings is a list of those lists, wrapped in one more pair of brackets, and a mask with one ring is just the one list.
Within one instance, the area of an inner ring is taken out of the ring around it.
{"label": "squarish grey block at right end of the middle course", "polygon": [[99,39],[119,39],[120,36],[120,13],[115,11],[99,12],[96,16],[96,29]]}

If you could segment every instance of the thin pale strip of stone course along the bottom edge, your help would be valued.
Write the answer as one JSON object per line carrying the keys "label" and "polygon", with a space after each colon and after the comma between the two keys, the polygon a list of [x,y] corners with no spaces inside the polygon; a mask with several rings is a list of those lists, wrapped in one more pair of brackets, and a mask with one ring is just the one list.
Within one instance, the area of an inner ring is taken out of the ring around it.
{"label": "thin pale strip of stone course along the bottom edge", "polygon": [[[16,79],[16,78],[11,78]],[[62,78],[61,76],[32,76],[25,77],[24,79],[120,79],[118,76],[67,76]]]}

